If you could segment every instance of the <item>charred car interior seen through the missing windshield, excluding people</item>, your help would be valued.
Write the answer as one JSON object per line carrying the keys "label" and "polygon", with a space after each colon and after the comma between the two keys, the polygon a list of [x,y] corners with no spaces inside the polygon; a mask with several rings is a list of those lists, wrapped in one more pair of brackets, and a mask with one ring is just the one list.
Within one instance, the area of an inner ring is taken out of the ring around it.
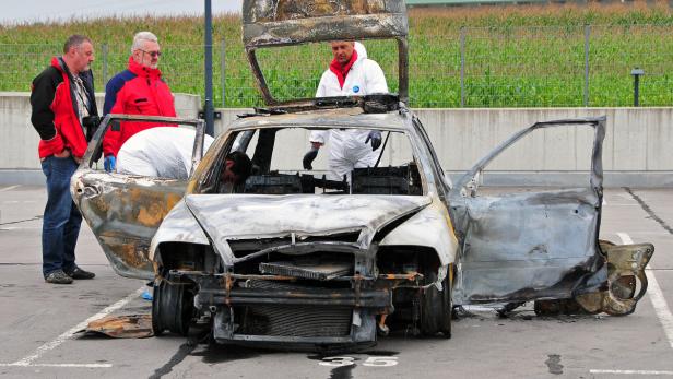
{"label": "charred car interior seen through the missing windshield, excluding people", "polygon": [[[241,131],[234,137],[231,151],[245,152],[252,162],[252,173],[245,183],[220,188],[217,193],[324,193],[324,194],[423,194],[423,185],[409,139],[404,133],[385,132],[379,158],[374,167],[354,168],[342,180],[328,179],[329,142],[312,170],[302,167],[305,151],[296,151],[303,128],[273,128]],[[394,134],[394,135],[393,135]],[[294,141],[294,143],[290,143]],[[295,146],[294,149],[288,149]],[[226,154],[224,154],[226,155]],[[224,156],[223,155],[223,156]],[[224,167],[220,165],[220,167]],[[215,168],[216,169],[216,168]],[[212,192],[211,192],[212,193]]]}

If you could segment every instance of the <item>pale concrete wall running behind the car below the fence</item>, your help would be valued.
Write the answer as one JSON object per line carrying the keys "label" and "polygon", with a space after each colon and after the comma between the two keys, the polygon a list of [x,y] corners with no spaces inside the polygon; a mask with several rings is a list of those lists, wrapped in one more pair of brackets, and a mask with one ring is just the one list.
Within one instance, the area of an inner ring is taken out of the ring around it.
{"label": "pale concrete wall running behind the car below the fence", "polygon": [[[103,98],[98,99],[103,104]],[[193,118],[198,96],[176,95],[180,117]],[[251,109],[217,109],[215,133]],[[37,133],[29,122],[27,94],[0,93],[0,183],[42,183]],[[673,107],[415,109],[442,167],[453,177],[516,131],[539,120],[607,116],[603,144],[605,186],[673,186]],[[545,130],[511,146],[488,167],[486,185],[587,183],[591,130]],[[296,141],[299,151],[307,141]],[[323,154],[321,154],[323,155]]]}

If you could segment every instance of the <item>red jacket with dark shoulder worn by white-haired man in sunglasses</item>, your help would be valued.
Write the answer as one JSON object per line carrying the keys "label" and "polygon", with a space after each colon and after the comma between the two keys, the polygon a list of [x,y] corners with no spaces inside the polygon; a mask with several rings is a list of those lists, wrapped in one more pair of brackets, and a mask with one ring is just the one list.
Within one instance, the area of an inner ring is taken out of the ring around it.
{"label": "red jacket with dark shoulder worn by white-haired man in sunglasses", "polygon": [[[103,114],[176,116],[173,94],[162,80],[162,72],[137,63],[132,57],[129,57],[129,68],[107,83]],[[131,135],[145,129],[166,126],[155,122],[119,122],[119,128],[113,126],[105,133],[103,153],[105,156],[117,156],[121,145]]]}

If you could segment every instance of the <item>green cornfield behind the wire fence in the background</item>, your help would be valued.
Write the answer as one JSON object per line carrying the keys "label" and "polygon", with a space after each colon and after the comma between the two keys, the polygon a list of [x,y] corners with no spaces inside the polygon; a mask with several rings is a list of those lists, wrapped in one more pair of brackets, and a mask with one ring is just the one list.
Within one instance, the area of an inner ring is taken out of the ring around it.
{"label": "green cornfield behind the wire fence in the background", "polygon": [[[261,105],[240,42],[239,17],[219,15],[213,24],[214,104]],[[589,106],[631,105],[634,67],[646,72],[641,105],[673,105],[673,11],[665,3],[636,2],[411,10],[411,106],[459,107],[461,97],[465,107],[582,106],[586,25],[590,25]],[[161,68],[173,91],[203,94],[203,23],[196,16],[1,26],[0,91],[29,91],[32,78],[73,33],[94,40],[96,87],[103,91],[106,79],[126,68],[132,35],[143,29],[160,37]],[[395,45],[365,45],[395,91]],[[280,99],[311,97],[331,59],[324,44],[265,49],[259,58]]]}

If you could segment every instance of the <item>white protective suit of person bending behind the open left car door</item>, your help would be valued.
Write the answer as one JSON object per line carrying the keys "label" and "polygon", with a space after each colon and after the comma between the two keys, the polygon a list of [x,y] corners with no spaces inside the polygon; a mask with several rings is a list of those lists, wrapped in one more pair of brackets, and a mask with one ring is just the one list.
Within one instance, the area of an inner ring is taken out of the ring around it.
{"label": "white protective suit of person bending behind the open left car door", "polygon": [[[128,139],[117,154],[117,173],[156,178],[187,179],[196,131],[189,128],[156,127]],[[213,138],[205,135],[203,152]]]}

